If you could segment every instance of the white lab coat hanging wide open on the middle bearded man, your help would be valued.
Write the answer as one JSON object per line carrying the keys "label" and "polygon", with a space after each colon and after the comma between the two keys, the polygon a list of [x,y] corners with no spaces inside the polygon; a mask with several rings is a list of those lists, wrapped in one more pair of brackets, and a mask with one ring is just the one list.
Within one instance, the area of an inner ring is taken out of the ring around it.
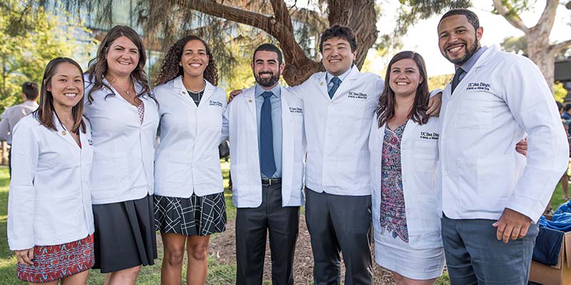
{"label": "white lab coat hanging wide open on the middle bearded man", "polygon": [[[230,135],[233,204],[238,208],[254,208],[262,203],[255,89],[249,88],[236,96],[225,115]],[[283,207],[303,204],[303,112],[301,100],[281,88]]]}

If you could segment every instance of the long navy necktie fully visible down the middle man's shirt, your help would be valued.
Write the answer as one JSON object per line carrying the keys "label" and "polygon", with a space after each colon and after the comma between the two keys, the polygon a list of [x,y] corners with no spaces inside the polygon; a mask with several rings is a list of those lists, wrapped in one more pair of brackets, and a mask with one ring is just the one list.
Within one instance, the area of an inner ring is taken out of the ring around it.
{"label": "long navy necktie fully visible down the middle man's shirt", "polygon": [[273,157],[273,127],[271,91],[262,93],[263,104],[260,112],[260,167],[263,175],[271,178],[276,172],[276,160]]}

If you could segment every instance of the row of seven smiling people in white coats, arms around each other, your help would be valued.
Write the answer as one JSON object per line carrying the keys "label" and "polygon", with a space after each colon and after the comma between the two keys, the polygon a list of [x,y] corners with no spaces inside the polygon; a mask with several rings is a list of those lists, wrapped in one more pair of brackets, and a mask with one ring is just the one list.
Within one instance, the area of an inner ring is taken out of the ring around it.
{"label": "row of seven smiling people in white coats, arms around each other", "polygon": [[[171,46],[152,91],[132,28],[111,28],[85,74],[55,58],[11,144],[19,279],[85,284],[93,267],[106,284],[135,284],[158,230],[161,283],[180,284],[187,252],[186,283],[205,284],[209,237],[226,224],[218,145],[229,139],[236,284],[262,284],[268,232],[272,283],[293,284],[304,199],[313,284],[340,284],[341,257],[345,284],[373,284],[370,237],[398,284],[433,284],[445,262],[451,284],[526,284],[567,164],[557,108],[530,60],[480,45],[472,11],[448,11],[437,29],[456,72],[432,96],[413,51],[385,81],[361,73],[345,26],[323,31],[325,72],[299,86],[279,83],[276,46],[258,46],[256,85],[231,103],[196,36]],[[527,156],[515,147],[525,137]]]}

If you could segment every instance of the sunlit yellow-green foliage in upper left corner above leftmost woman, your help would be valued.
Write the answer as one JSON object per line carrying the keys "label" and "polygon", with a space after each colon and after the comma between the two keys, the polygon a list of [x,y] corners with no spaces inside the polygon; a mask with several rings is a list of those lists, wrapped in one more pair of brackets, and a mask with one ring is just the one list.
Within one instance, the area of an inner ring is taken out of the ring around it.
{"label": "sunlit yellow-green foliage in upper left corner above leftmost woman", "polygon": [[41,85],[52,58],[66,56],[85,63],[88,55],[83,51],[89,51],[90,42],[94,44],[80,23],[22,3],[5,0],[0,5],[0,112],[21,103],[25,81]]}

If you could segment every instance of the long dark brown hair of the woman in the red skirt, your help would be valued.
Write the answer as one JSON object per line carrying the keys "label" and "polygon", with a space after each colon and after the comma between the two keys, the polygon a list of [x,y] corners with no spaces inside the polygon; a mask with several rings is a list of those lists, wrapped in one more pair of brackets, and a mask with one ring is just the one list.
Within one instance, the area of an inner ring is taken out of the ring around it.
{"label": "long dark brown hair of the woman in the red skirt", "polygon": [[[76,61],[71,58],[54,58],[49,61],[48,65],[46,66],[46,71],[44,71],[44,78],[41,81],[41,88],[40,88],[40,105],[38,110],[34,111],[34,115],[40,121],[41,125],[44,125],[46,128],[57,130],[56,122],[54,122],[54,95],[51,94],[51,91],[48,90],[48,87],[51,84],[51,78],[56,75],[56,71],[58,66],[61,63],[70,63],[74,65],[79,74],[84,74],[84,71],[81,70],[81,66],[79,66]],[[84,78],[81,77],[81,81],[84,81]],[[81,88],[84,88],[83,85]],[[85,94],[84,94],[85,96]],[[71,108],[71,116],[74,118],[74,127],[70,130],[71,132],[77,133],[79,128],[81,128],[81,132],[86,132],[86,127],[84,120],[82,117],[84,115],[84,98],[73,107]],[[57,117],[57,116],[56,116]],[[61,122],[59,122],[61,124]]]}

